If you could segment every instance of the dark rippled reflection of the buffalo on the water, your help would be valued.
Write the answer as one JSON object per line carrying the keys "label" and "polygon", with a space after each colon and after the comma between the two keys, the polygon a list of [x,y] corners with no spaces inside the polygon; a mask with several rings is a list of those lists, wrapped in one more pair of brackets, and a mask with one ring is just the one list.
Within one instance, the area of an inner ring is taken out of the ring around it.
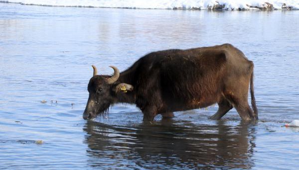
{"label": "dark rippled reflection of the buffalo on the water", "polygon": [[252,168],[255,127],[243,122],[227,124],[163,120],[153,125],[111,126],[87,122],[88,164],[112,169]]}

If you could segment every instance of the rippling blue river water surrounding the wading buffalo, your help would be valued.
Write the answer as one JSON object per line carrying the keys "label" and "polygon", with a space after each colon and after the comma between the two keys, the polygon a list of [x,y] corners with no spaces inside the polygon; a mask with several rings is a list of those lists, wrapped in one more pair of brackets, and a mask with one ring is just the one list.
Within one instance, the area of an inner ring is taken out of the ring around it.
{"label": "rippling blue river water surrounding the wading buffalo", "polygon": [[[299,129],[284,124],[299,119],[298,16],[0,3],[0,169],[297,169]],[[92,64],[112,74],[150,51],[222,43],[255,63],[258,123],[234,109],[208,119],[217,105],[152,124],[133,105],[82,119]]]}

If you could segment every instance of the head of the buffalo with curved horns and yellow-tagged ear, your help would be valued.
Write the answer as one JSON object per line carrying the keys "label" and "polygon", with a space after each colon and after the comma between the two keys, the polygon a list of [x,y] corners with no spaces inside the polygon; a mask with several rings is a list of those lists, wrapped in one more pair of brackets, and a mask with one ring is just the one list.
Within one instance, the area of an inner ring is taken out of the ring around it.
{"label": "head of the buffalo with curved horns and yellow-tagged ear", "polygon": [[88,83],[89,97],[83,113],[83,119],[93,119],[97,115],[105,113],[111,104],[117,101],[117,93],[119,91],[132,91],[133,86],[126,83],[119,83],[120,71],[115,66],[110,66],[114,69],[113,76],[97,75],[96,66],[93,67],[93,77]]}

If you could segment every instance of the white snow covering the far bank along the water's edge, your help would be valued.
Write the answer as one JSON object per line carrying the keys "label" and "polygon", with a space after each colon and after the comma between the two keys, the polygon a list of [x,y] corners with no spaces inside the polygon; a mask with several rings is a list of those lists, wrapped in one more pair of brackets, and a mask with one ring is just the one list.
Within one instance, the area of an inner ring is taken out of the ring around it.
{"label": "white snow covering the far bank along the water's edge", "polygon": [[[222,5],[223,9],[257,9],[272,4],[273,9],[289,6],[299,9],[299,0],[0,0],[21,4],[50,6],[90,6],[90,7],[121,7],[121,8],[158,8],[158,9],[211,9],[214,5]],[[269,3],[269,4],[268,4]],[[252,7],[250,7],[252,6]],[[215,6],[214,6],[215,7]]]}

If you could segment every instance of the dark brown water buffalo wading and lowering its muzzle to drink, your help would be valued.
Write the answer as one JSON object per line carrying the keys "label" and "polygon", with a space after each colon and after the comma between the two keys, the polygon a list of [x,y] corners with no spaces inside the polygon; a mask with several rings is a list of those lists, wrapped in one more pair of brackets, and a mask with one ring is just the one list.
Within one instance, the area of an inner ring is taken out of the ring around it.
{"label": "dark brown water buffalo wading and lowering its muzzle to drink", "polygon": [[92,67],[84,119],[106,113],[115,103],[135,103],[144,121],[218,103],[211,119],[221,119],[234,107],[243,120],[258,120],[253,62],[231,44],[151,52],[121,73],[110,66],[113,76],[97,75]]}

